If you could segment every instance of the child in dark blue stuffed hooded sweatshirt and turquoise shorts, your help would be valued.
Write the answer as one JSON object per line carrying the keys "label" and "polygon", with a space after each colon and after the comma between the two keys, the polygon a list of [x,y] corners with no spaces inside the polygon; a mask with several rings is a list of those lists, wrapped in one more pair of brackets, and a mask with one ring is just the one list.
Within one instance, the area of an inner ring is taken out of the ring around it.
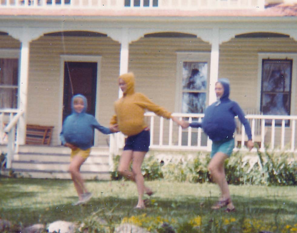
{"label": "child in dark blue stuffed hooded sweatshirt and turquoise shorts", "polygon": [[218,100],[206,108],[202,122],[185,123],[185,126],[202,127],[209,139],[212,140],[211,161],[208,169],[221,190],[221,198],[217,204],[212,206],[212,209],[227,206],[226,212],[230,212],[234,211],[235,208],[231,201],[225,177],[224,162],[232,154],[234,148],[235,116],[238,116],[245,127],[249,150],[254,147],[254,143],[252,141],[251,127],[242,109],[238,103],[229,99],[229,80],[219,79],[215,84],[215,93]]}

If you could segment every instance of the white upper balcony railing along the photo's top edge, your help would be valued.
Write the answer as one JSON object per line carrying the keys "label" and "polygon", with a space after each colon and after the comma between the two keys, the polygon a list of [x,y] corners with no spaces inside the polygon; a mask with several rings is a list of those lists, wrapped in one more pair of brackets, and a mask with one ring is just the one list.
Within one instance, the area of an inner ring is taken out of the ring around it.
{"label": "white upper balcony railing along the photo's top edge", "polygon": [[265,0],[3,0],[0,8],[125,9],[264,9]]}

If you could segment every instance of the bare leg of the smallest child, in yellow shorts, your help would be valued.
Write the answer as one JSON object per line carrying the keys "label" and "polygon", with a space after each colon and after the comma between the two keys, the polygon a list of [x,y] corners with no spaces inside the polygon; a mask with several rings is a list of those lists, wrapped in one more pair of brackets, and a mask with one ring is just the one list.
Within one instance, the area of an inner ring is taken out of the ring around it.
{"label": "bare leg of the smallest child, in yellow shorts", "polygon": [[79,200],[82,200],[83,193],[88,192],[85,187],[82,176],[79,172],[83,162],[85,162],[85,159],[79,155],[76,155],[75,157],[72,158],[72,161],[69,166],[69,172],[71,174],[71,178],[74,183],[74,187],[77,191]]}

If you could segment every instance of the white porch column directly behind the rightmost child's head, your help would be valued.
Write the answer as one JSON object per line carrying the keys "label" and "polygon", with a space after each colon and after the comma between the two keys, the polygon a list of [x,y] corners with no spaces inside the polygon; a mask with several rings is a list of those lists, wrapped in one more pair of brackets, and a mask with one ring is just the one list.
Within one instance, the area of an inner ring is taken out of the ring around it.
{"label": "white porch column directly behind the rightmost child's head", "polygon": [[219,74],[219,29],[212,29],[212,51],[210,54],[209,105],[216,101],[215,83]]}

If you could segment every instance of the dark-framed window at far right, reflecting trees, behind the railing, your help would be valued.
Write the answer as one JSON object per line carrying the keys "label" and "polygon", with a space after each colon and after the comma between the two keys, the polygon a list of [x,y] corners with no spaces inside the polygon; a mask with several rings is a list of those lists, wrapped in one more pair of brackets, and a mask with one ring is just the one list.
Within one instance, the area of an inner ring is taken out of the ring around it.
{"label": "dark-framed window at far right, reflecting trees, behind the railing", "polygon": [[[260,108],[264,115],[290,115],[292,64],[292,59],[262,59]],[[271,125],[271,120],[265,122]],[[281,120],[275,124],[281,125]]]}

